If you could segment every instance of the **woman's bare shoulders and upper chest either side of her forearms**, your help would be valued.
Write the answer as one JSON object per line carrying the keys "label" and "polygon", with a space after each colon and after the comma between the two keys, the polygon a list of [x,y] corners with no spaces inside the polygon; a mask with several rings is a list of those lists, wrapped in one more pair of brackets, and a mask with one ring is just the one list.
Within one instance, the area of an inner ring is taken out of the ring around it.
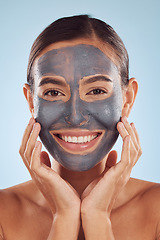
{"label": "woman's bare shoulders and upper chest either side of her forearms", "polygon": [[[0,239],[47,239],[53,216],[33,181],[3,190],[0,197]],[[131,178],[111,212],[115,239],[160,239],[159,198],[159,184]]]}

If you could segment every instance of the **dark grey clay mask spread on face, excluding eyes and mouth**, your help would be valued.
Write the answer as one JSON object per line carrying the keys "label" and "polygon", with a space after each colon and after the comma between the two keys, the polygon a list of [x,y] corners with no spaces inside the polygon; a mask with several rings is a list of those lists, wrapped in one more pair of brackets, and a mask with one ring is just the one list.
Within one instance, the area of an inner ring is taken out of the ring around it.
{"label": "dark grey clay mask spread on face, excluding eyes and mouth", "polygon": [[[80,97],[80,81],[86,76],[107,75],[112,79],[110,97],[92,102]],[[61,76],[70,87],[67,101],[47,101],[37,94],[44,76]],[[92,45],[75,45],[53,49],[43,54],[34,67],[35,119],[41,124],[40,138],[46,149],[65,168],[86,171],[100,162],[115,144],[117,122],[121,117],[122,89],[116,65],[100,49]],[[73,113],[74,111],[74,113]],[[58,144],[50,131],[66,129],[99,130],[103,137],[97,147],[87,153],[73,154]]]}

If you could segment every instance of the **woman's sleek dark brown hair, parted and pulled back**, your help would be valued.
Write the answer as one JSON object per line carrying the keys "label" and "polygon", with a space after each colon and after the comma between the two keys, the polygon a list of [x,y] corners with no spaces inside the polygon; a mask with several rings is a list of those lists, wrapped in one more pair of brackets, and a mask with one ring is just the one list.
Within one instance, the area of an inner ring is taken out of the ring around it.
{"label": "woman's sleek dark brown hair, parted and pulled back", "polygon": [[30,84],[31,90],[34,83],[32,65],[35,58],[43,49],[52,43],[78,38],[92,39],[94,36],[104,44],[107,43],[112,47],[118,57],[122,83],[123,85],[127,85],[129,78],[129,58],[121,38],[114,29],[105,22],[91,18],[88,15],[78,15],[56,20],[45,28],[34,41],[27,69],[27,82]]}

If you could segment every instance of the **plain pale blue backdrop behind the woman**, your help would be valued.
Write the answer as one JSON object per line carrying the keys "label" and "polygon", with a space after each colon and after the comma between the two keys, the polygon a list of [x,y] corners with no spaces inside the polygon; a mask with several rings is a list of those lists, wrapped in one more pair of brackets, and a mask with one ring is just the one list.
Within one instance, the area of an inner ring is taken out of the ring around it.
{"label": "plain pale blue backdrop behind the woman", "polygon": [[52,21],[84,13],[109,23],[126,45],[130,77],[139,82],[129,120],[143,149],[132,177],[160,182],[160,1],[0,0],[0,188],[30,179],[18,151],[30,118],[22,87],[31,45]]}

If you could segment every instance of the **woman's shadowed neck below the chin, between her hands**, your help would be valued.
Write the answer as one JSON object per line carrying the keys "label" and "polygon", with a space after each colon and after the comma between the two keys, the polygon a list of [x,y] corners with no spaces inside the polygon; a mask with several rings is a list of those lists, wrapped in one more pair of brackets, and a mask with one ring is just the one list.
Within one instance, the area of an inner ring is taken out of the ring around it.
{"label": "woman's shadowed neck below the chin, between her hands", "polygon": [[65,169],[58,162],[53,160],[52,168],[67,182],[69,182],[72,187],[81,196],[86,187],[98,176],[102,174],[105,169],[105,160],[102,160],[95,167],[84,172],[74,172]]}

